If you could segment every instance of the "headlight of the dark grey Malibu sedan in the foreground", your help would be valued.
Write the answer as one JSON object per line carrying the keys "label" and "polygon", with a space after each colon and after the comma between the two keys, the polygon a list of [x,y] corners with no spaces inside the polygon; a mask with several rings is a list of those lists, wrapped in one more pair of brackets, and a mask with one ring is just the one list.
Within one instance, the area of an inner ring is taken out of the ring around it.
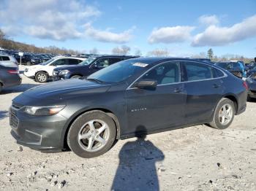
{"label": "headlight of the dark grey Malibu sedan in the foreground", "polygon": [[31,115],[58,114],[65,106],[26,106],[24,112]]}

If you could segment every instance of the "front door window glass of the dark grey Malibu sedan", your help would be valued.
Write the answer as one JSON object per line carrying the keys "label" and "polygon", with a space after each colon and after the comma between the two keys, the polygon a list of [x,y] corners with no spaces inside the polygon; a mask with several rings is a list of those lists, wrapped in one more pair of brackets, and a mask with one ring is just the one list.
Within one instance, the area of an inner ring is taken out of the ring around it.
{"label": "front door window glass of the dark grey Malibu sedan", "polygon": [[158,85],[170,84],[180,81],[179,64],[176,62],[163,63],[151,69],[140,80],[149,79],[157,81]]}

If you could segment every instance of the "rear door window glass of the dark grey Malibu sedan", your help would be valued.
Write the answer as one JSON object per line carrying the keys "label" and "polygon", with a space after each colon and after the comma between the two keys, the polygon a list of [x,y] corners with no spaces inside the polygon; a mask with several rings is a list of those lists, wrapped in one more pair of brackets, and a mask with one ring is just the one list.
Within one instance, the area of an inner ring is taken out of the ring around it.
{"label": "rear door window glass of the dark grey Malibu sedan", "polygon": [[187,62],[185,63],[185,69],[187,71],[187,81],[213,78],[211,67],[201,63]]}

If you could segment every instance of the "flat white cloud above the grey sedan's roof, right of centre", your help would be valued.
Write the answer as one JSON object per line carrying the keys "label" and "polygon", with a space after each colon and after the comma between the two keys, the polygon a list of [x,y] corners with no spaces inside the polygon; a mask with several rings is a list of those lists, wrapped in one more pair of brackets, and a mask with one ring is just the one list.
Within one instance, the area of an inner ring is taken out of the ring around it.
{"label": "flat white cloud above the grey sedan's roof, right of centre", "polygon": [[150,44],[184,42],[190,39],[190,33],[194,28],[193,26],[155,28],[148,37],[148,42]]}

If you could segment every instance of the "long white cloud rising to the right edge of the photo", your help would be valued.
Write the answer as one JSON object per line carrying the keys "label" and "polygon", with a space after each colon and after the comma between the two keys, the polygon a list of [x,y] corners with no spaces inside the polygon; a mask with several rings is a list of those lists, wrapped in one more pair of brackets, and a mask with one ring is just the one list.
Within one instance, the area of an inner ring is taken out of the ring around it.
{"label": "long white cloud rising to the right edge of the photo", "polygon": [[255,36],[256,15],[253,15],[230,27],[208,26],[203,33],[194,37],[192,46],[225,46]]}

